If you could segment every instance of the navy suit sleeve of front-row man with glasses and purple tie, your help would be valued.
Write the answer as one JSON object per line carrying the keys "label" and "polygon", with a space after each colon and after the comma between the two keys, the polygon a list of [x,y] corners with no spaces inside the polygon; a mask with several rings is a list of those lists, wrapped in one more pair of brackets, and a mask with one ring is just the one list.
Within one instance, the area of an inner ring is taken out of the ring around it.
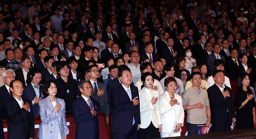
{"label": "navy suit sleeve of front-row man with glasses and purple tie", "polygon": [[86,115],[83,115],[81,111],[81,104],[78,104],[78,103],[79,103],[78,101],[74,101],[74,104],[73,104],[73,116],[74,116],[75,123],[77,124],[77,123],[93,120],[93,115],[91,111],[88,111]]}

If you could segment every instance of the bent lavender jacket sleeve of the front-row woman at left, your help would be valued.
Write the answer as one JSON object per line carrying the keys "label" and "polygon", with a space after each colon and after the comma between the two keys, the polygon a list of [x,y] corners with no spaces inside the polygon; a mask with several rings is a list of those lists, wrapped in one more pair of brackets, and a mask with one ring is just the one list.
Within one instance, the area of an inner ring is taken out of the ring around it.
{"label": "bent lavender jacket sleeve of the front-row woman at left", "polygon": [[42,103],[42,101],[39,102],[39,108],[40,108],[40,118],[41,118],[42,123],[47,124],[54,118],[57,118],[57,115],[56,115],[56,113],[54,113],[54,111],[49,113],[49,115],[46,115],[47,108],[46,108],[46,105]]}

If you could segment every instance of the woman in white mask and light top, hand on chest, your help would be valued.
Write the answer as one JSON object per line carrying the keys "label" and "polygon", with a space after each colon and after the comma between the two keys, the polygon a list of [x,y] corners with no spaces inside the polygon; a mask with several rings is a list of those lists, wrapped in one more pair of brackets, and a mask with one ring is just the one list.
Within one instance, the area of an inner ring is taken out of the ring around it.
{"label": "woman in white mask and light top, hand on chest", "polygon": [[189,71],[189,73],[191,74],[191,68],[193,66],[196,66],[196,59],[194,59],[192,57],[192,53],[191,50],[189,48],[185,48],[184,50],[185,53],[185,59],[186,59],[186,67],[185,69],[187,69]]}

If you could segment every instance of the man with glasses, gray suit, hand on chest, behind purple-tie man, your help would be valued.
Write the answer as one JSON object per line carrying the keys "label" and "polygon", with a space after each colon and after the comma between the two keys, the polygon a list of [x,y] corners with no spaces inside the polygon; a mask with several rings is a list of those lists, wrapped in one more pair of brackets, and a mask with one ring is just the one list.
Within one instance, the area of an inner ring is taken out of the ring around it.
{"label": "man with glasses, gray suit, hand on chest, behind purple-tie man", "polygon": [[99,109],[100,112],[103,112],[106,114],[106,123],[108,124],[109,112],[110,112],[109,99],[107,97],[106,86],[103,83],[97,81],[97,78],[100,74],[98,70],[98,66],[97,65],[88,66],[87,72],[88,72],[88,75],[90,76],[89,82],[93,87],[91,97],[93,97],[94,99],[96,99],[96,101],[100,103],[100,108],[97,108],[97,109]]}

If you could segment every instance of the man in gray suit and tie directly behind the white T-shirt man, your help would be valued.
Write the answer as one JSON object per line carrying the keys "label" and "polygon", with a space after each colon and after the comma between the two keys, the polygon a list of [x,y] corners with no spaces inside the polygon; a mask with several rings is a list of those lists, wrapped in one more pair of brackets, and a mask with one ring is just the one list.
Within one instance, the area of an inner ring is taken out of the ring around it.
{"label": "man in gray suit and tie directly behind the white T-shirt man", "polygon": [[207,56],[207,65],[208,65],[208,75],[211,76],[214,71],[214,61],[216,59],[223,59],[226,62],[225,57],[220,55],[221,46],[218,43],[213,44],[213,53]]}

